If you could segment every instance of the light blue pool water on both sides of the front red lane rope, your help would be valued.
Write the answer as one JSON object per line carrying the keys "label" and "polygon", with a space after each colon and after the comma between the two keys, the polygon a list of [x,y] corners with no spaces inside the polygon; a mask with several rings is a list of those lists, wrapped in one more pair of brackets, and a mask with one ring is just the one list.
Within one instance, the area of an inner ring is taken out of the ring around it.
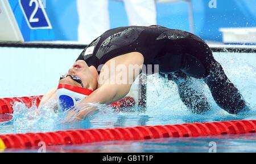
{"label": "light blue pool water on both sides of the front red lane rope", "polygon": [[[65,123],[63,114],[57,114],[49,105],[35,114],[36,107],[26,109],[22,103],[14,106],[13,122],[0,126],[0,134],[24,132],[50,132],[88,128],[114,128],[134,126],[154,126],[192,122],[216,122],[221,120],[256,119],[256,54],[214,54],[229,79],[237,85],[251,111],[231,115],[220,109],[210,96],[209,89],[202,81],[196,83],[203,89],[210,101],[211,110],[204,114],[192,114],[179,99],[177,88],[171,81],[148,78],[147,111],[137,108],[133,111],[116,112],[100,106],[100,111],[92,118],[81,122]],[[151,86],[154,85],[154,87]],[[5,115],[7,116],[7,115]],[[5,117],[0,115],[0,118]],[[217,152],[256,152],[256,135],[214,136],[185,139],[158,139],[148,141],[111,141],[73,146],[51,146],[48,152],[209,152],[209,143],[217,144]],[[11,149],[5,152],[37,152],[33,149]]]}

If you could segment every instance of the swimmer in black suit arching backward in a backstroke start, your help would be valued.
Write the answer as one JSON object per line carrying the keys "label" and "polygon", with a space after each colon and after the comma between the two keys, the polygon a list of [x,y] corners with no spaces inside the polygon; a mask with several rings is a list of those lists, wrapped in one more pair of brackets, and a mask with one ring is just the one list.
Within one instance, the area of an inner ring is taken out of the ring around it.
{"label": "swimmer in black suit arching backward in a backstroke start", "polygon": [[[40,106],[53,98],[61,101],[59,107],[64,109],[77,103],[110,105],[129,93],[143,66],[150,64],[158,66],[153,72],[177,84],[181,100],[193,113],[204,113],[210,106],[204,94],[191,87],[191,77],[203,79],[218,106],[228,113],[247,110],[240,92],[203,40],[159,25],[119,27],[103,33],[82,51],[67,75],[61,76],[59,87],[48,92]],[[133,73],[123,74],[121,70],[131,66]],[[92,112],[81,111],[77,117],[83,119]]]}

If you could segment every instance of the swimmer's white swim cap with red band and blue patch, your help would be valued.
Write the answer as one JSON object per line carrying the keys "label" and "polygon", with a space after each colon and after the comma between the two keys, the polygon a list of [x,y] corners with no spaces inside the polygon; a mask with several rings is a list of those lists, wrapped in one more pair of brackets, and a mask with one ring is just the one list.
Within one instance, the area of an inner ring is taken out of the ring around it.
{"label": "swimmer's white swim cap with red band and blue patch", "polygon": [[76,106],[80,101],[88,97],[93,91],[86,88],[75,87],[68,84],[59,84],[57,88],[57,100],[59,108],[65,110]]}

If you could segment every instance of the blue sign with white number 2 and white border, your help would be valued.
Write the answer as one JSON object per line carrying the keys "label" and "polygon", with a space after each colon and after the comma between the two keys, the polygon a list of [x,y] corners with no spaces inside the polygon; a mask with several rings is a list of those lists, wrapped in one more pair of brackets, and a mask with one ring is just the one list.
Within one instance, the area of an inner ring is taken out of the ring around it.
{"label": "blue sign with white number 2 and white border", "polygon": [[31,29],[51,29],[52,25],[48,19],[41,0],[19,0],[28,27]]}

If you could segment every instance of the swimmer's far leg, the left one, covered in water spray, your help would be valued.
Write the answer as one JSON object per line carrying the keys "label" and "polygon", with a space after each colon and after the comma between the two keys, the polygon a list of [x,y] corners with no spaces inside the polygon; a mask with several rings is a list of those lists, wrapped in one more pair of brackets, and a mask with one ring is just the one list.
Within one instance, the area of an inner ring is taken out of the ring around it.
{"label": "swimmer's far leg, the left one, covered in water spray", "polygon": [[191,77],[187,77],[182,72],[168,74],[168,80],[172,80],[177,84],[181,101],[188,107],[192,113],[203,114],[210,110],[207,97],[204,93],[193,88]]}

